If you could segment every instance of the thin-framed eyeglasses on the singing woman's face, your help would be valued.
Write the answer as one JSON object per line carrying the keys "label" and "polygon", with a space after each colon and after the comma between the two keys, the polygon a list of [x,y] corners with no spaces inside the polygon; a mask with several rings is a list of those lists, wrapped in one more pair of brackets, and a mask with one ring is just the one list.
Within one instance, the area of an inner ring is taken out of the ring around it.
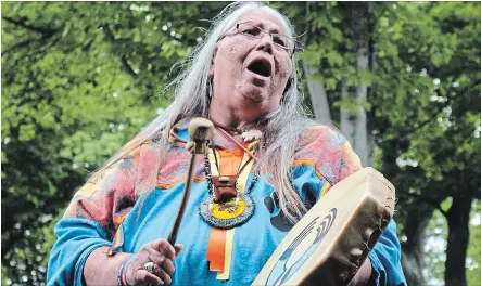
{"label": "thin-framed eyeglasses on the singing woman's face", "polygon": [[267,34],[270,36],[270,39],[275,46],[284,49],[291,56],[296,50],[296,43],[293,39],[280,34],[269,32],[253,25],[252,23],[238,23],[236,24],[236,30],[240,35],[254,39],[261,39],[264,37],[264,34]]}

